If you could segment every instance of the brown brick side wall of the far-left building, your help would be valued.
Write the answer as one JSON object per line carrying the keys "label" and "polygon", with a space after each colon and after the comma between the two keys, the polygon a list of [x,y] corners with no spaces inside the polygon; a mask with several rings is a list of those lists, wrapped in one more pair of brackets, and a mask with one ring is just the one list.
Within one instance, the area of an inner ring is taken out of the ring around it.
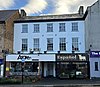
{"label": "brown brick side wall of the far-left building", "polygon": [[19,12],[16,12],[6,21],[6,31],[4,34],[4,49],[9,50],[10,53],[13,52],[13,35],[14,35],[13,21],[19,17],[20,17]]}

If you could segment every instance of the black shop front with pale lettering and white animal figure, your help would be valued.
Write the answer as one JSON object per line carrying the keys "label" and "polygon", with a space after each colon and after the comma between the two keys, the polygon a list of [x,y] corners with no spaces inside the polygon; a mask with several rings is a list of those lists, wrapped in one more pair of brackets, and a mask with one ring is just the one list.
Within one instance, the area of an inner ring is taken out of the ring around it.
{"label": "black shop front with pale lettering and white animal figure", "polygon": [[56,75],[58,78],[89,78],[89,60],[87,54],[57,54],[56,60]]}

